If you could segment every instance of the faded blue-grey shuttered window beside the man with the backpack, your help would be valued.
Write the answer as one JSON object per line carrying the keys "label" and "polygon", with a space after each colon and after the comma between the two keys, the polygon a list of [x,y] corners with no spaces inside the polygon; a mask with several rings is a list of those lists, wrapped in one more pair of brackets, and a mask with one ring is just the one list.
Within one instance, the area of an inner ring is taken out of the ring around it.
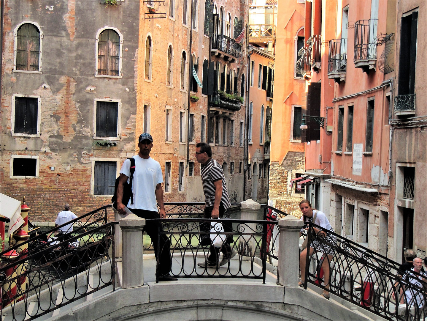
{"label": "faded blue-grey shuttered window beside the man with the backpack", "polygon": [[113,195],[116,182],[116,162],[95,161],[94,195]]}

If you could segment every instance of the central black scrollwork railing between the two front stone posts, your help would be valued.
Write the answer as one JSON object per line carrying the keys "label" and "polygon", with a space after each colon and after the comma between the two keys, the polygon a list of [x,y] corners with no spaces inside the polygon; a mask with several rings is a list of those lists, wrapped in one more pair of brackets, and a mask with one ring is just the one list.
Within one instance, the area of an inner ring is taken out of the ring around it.
{"label": "central black scrollwork railing between the two front stone posts", "polygon": [[[147,220],[148,221],[148,220]],[[266,221],[242,221],[234,219],[162,219],[151,220],[158,224],[158,255],[169,251],[172,258],[171,275],[177,278],[246,278],[266,279]],[[218,221],[222,222],[224,232],[219,232]],[[215,232],[211,231],[211,222],[215,225]],[[277,224],[277,222],[271,223]],[[161,238],[166,238],[161,247]],[[200,267],[198,263],[208,260],[212,239],[219,238],[224,244],[217,248],[218,255],[214,255],[216,262],[213,267]],[[237,251],[232,260],[222,262],[220,252],[229,244],[228,253]],[[261,256],[262,266],[254,263],[255,257]],[[216,266],[215,266],[216,263]],[[159,265],[159,260],[157,260]]]}

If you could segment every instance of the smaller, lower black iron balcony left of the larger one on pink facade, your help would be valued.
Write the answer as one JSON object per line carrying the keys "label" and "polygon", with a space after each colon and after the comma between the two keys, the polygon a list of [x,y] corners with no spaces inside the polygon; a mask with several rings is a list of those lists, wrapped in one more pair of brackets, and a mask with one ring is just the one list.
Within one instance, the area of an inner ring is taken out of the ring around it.
{"label": "smaller, lower black iron balcony left of the larger one on pink facade", "polygon": [[347,39],[329,41],[328,78],[345,81],[347,69]]}

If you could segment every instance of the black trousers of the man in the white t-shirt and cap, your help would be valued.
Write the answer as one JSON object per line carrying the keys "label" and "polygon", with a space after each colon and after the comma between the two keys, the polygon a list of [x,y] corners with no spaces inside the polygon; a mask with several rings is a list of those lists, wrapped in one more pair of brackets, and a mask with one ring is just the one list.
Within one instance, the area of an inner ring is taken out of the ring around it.
{"label": "black trousers of the man in the white t-shirt and cap", "polygon": [[[158,234],[158,231],[161,230],[161,224],[159,221],[151,221],[152,218],[160,218],[158,212],[147,211],[146,209],[130,209],[132,213],[139,216],[140,218],[145,218],[145,228],[144,230],[149,235],[153,247],[154,255],[157,259],[157,269],[156,276],[159,274],[167,275],[170,272],[172,261],[170,259],[170,240],[164,234]],[[160,244],[159,244],[160,239]],[[160,247],[159,247],[160,245]],[[158,251],[160,250],[160,255]]]}

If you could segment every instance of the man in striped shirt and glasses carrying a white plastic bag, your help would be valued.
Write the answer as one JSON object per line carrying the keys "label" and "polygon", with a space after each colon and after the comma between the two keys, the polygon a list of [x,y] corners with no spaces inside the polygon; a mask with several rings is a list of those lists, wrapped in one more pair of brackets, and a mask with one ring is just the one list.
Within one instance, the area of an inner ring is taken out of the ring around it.
{"label": "man in striped shirt and glasses carrying a white plastic bag", "polygon": [[[224,171],[221,165],[212,158],[211,146],[206,143],[196,144],[196,159],[202,164],[201,176],[203,193],[205,194],[205,218],[222,218],[226,209],[231,206],[230,197],[227,193]],[[228,224],[222,224],[225,232],[231,232]],[[197,263],[201,268],[217,268],[219,265],[227,264],[236,255],[237,251],[231,249],[232,237],[226,239],[222,247],[211,245],[210,255],[206,262]],[[222,260],[219,262],[219,249],[222,252]]]}

